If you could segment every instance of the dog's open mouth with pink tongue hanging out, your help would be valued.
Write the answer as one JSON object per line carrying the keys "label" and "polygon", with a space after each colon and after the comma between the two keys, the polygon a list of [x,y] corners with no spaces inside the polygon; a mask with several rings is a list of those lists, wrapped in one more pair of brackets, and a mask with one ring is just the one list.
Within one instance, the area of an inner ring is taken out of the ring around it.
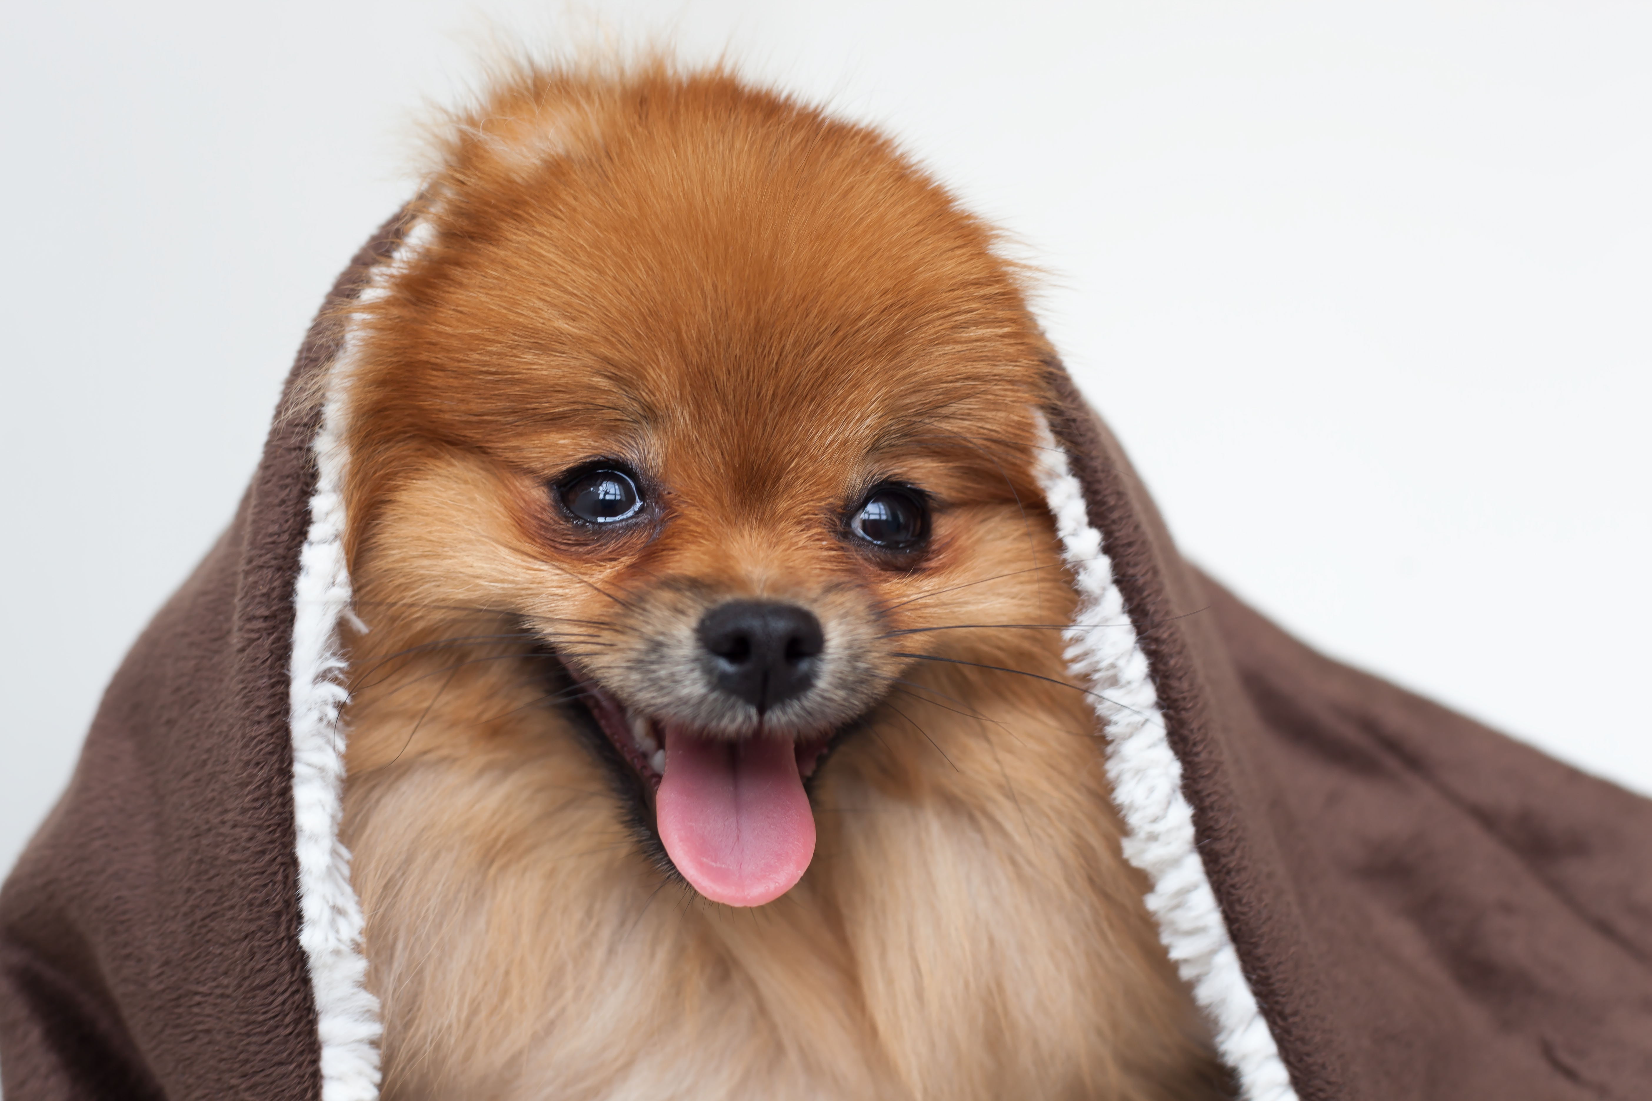
{"label": "dog's open mouth with pink tongue hanging out", "polygon": [[836,731],[729,740],[626,708],[578,670],[586,710],[634,773],[654,832],[684,880],[729,906],[762,906],[796,885],[814,858],[805,781]]}

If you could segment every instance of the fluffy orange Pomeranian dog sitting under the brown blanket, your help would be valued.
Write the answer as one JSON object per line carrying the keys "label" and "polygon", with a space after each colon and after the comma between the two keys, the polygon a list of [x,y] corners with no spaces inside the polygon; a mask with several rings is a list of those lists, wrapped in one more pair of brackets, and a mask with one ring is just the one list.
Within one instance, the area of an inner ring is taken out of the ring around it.
{"label": "fluffy orange Pomeranian dog sitting under the brown blanket", "polygon": [[1120,855],[1023,272],[724,69],[520,66],[334,380],[392,1099],[1227,1096]]}

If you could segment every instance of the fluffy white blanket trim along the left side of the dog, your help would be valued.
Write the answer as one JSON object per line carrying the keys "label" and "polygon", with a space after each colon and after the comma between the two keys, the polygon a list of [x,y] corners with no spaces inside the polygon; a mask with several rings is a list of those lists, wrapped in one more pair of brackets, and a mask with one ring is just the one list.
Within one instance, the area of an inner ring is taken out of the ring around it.
{"label": "fluffy white blanket trim along the left side of the dog", "polygon": [[[388,282],[423,244],[428,223],[378,264],[362,300],[387,294]],[[352,621],[350,574],[344,560],[344,497],[349,454],[344,444],[345,385],[357,340],[349,324],[337,358],[327,365],[327,398],[316,436],[316,494],[311,527],[299,556],[294,588],[291,715],[292,809],[297,825],[299,944],[309,959],[320,1038],[322,1101],[377,1101],[378,999],[363,985],[362,903],[350,886],[350,853],[339,842],[345,731],[340,711],[349,700],[339,624]]]}

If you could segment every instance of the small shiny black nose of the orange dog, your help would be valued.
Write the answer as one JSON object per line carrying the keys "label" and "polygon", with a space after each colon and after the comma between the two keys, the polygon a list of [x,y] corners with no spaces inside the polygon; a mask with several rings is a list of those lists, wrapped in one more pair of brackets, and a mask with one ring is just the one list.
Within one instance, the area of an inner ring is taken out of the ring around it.
{"label": "small shiny black nose of the orange dog", "polygon": [[814,665],[826,649],[821,621],[796,604],[732,601],[705,612],[700,645],[712,654],[712,677],[729,695],[762,715],[800,697],[814,683]]}

